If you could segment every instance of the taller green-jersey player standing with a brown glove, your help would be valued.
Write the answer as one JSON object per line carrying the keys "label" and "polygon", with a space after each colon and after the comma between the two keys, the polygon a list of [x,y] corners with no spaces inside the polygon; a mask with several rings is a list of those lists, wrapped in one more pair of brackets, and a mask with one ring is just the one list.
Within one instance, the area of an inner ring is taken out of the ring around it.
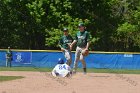
{"label": "taller green-jersey player standing with a brown glove", "polygon": [[88,51],[91,36],[89,32],[85,30],[83,23],[80,23],[78,27],[79,31],[77,32],[74,41],[70,45],[70,48],[72,49],[73,45],[77,43],[73,72],[76,73],[77,63],[80,60],[83,65],[84,74],[86,74],[86,62],[84,60],[84,55],[82,55],[82,50]]}

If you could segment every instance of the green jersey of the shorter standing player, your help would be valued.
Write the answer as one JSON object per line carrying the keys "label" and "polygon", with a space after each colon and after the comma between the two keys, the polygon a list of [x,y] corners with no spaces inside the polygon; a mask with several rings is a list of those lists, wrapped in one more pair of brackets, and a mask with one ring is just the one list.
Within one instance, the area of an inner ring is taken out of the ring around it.
{"label": "green jersey of the shorter standing player", "polygon": [[60,47],[64,48],[64,49],[69,49],[69,45],[72,43],[73,41],[73,38],[71,35],[68,35],[68,36],[62,36],[60,41],[59,41],[59,44],[60,44]]}

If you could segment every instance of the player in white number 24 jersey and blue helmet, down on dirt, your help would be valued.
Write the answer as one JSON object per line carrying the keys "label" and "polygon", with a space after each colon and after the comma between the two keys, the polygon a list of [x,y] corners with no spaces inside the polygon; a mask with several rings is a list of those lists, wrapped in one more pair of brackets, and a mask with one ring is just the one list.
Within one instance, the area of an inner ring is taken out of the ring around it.
{"label": "player in white number 24 jersey and blue helmet, down on dirt", "polygon": [[55,68],[52,71],[52,75],[54,77],[69,77],[72,75],[72,71],[70,66],[64,63],[62,58],[58,59],[58,64],[55,66]]}

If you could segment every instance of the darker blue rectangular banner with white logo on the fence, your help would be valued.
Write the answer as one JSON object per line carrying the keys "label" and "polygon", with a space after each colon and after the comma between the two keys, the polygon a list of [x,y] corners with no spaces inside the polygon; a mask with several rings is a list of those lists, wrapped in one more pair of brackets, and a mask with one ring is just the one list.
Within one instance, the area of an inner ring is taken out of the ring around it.
{"label": "darker blue rectangular banner with white logo on the fence", "polygon": [[13,52],[13,64],[31,64],[32,52]]}

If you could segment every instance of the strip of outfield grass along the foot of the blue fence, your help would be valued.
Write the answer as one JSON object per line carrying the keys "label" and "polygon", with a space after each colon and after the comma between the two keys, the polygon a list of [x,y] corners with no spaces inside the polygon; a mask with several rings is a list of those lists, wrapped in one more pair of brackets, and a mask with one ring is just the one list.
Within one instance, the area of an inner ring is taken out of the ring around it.
{"label": "strip of outfield grass along the foot of the blue fence", "polygon": [[[50,72],[52,68],[37,68],[37,67],[0,67],[0,71],[39,71],[39,72]],[[82,69],[78,69],[82,72]],[[140,70],[128,70],[128,69],[87,69],[90,73],[118,73],[118,74],[140,74]]]}

